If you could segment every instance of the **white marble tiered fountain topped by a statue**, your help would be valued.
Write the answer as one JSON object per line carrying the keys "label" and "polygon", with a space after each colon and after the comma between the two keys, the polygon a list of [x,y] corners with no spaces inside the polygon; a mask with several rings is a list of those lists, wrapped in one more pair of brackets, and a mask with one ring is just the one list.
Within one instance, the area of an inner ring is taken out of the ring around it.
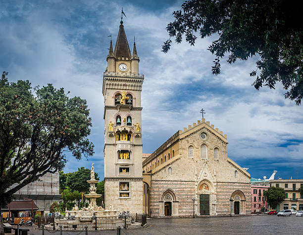
{"label": "white marble tiered fountain topped by a statue", "polygon": [[101,194],[96,193],[96,186],[99,181],[95,179],[95,167],[94,163],[92,163],[91,169],[91,179],[87,182],[90,184],[90,193],[84,195],[87,198],[90,198],[90,204],[88,207],[83,207],[79,210],[78,206],[75,205],[72,210],[68,211],[65,209],[65,216],[75,216],[76,218],[92,218],[95,214],[96,217],[114,217],[119,215],[119,210],[115,210],[113,206],[110,204],[109,210],[104,210],[102,206],[97,206],[96,199],[101,197]]}

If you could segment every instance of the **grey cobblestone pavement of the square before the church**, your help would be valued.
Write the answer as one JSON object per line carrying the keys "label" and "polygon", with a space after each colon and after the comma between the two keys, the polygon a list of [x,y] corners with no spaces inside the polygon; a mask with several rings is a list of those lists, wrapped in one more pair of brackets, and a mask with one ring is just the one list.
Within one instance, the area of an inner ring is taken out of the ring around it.
{"label": "grey cobblestone pavement of the square before the church", "polygon": [[[27,227],[30,228],[30,227]],[[37,226],[29,235],[42,235]],[[45,231],[45,235],[59,232]],[[89,231],[89,235],[116,235],[117,231]],[[303,217],[277,217],[271,215],[203,218],[152,218],[145,228],[121,230],[121,235],[302,235]],[[85,235],[81,231],[63,231],[62,235]]]}

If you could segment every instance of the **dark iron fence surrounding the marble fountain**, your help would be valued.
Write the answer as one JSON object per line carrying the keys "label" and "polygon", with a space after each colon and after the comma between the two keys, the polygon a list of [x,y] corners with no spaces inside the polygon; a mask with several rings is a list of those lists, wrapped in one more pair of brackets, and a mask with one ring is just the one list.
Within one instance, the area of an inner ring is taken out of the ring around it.
{"label": "dark iron fence surrounding the marble fountain", "polygon": [[46,230],[58,230],[60,226],[63,231],[84,230],[112,230],[121,227],[130,229],[142,227],[146,224],[146,214],[130,214],[125,218],[104,217],[104,218],[55,218],[52,216],[38,217],[38,228],[42,226]]}

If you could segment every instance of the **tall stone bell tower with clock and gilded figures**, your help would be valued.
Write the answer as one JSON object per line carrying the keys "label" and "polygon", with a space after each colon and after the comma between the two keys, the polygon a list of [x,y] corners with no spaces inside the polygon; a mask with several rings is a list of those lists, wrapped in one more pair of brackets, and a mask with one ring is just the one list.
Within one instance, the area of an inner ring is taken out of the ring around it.
{"label": "tall stone bell tower with clock and gilded figures", "polygon": [[121,19],[113,50],[110,40],[103,73],[104,199],[117,210],[142,213],[142,129],[139,57],[134,42],[131,54]]}

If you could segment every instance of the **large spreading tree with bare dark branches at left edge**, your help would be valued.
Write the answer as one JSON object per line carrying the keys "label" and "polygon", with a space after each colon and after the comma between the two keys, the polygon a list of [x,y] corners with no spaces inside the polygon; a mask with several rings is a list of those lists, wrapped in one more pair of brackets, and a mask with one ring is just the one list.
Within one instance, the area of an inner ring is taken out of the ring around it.
{"label": "large spreading tree with bare dark branches at left edge", "polygon": [[[64,166],[65,152],[77,159],[94,154],[88,140],[91,118],[86,100],[69,98],[51,84],[0,79],[0,212],[12,195]],[[3,234],[0,223],[0,235]]]}

